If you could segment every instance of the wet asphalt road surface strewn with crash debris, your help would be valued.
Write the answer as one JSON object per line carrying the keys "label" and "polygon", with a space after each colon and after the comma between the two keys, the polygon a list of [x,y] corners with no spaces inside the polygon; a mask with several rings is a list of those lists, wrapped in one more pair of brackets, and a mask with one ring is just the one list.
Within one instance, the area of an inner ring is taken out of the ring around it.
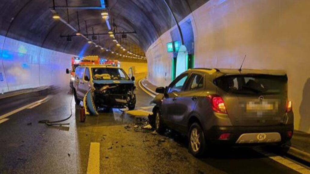
{"label": "wet asphalt road surface strewn with crash debris", "polygon": [[[136,76],[136,83],[144,76]],[[204,158],[194,158],[188,153],[184,136],[173,131],[161,136],[137,127],[145,124],[153,107],[149,104],[152,98],[137,87],[134,111],[101,111],[99,116],[87,116],[85,123],[79,122],[79,107],[68,89],[0,100],[0,173],[309,172],[277,153],[264,154],[249,147],[216,148]],[[64,121],[69,125],[38,123],[64,119],[71,108],[73,116]]]}

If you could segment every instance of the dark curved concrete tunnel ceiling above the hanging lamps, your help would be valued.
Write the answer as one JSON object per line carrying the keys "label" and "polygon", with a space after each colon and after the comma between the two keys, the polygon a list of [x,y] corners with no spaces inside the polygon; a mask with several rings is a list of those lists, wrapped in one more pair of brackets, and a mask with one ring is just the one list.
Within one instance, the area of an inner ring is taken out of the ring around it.
{"label": "dark curved concrete tunnel ceiling above the hanging lamps", "polygon": [[[166,0],[166,2],[179,22],[207,0]],[[105,3],[109,9],[111,26],[113,23],[119,32],[135,31],[136,33],[127,34],[126,43],[133,43],[141,52],[145,52],[159,36],[175,25],[164,0],[106,0]],[[55,0],[55,6],[66,6],[66,1]],[[100,0],[68,0],[68,6],[98,7]],[[111,56],[93,44],[87,45],[82,37],[73,37],[72,42],[67,42],[66,37],[60,37],[60,35],[67,36],[75,33],[61,21],[52,19],[50,7],[53,7],[52,0],[2,0],[0,34],[69,54]],[[67,21],[66,9],[56,9],[56,11]],[[92,28],[94,33],[108,32],[108,27],[101,18],[101,11],[95,9],[69,9],[69,24],[74,28],[78,29],[77,11],[82,33],[86,33],[85,20],[88,34],[92,34]],[[100,45],[114,51],[117,49],[108,35],[100,36]]]}

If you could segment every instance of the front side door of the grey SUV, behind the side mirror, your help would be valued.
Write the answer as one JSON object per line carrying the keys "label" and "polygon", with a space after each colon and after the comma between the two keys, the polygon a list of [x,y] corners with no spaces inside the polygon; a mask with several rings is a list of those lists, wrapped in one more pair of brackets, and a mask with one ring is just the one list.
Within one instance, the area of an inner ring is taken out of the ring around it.
{"label": "front side door of the grey SUV, behind the side mirror", "polygon": [[168,87],[167,94],[165,94],[165,97],[162,101],[162,116],[163,120],[167,122],[169,127],[173,128],[172,123],[172,115],[176,110],[178,110],[177,107],[175,107],[175,99],[179,96],[179,92],[181,92],[184,89],[184,85],[186,81],[188,80],[188,73],[181,74],[178,76]]}

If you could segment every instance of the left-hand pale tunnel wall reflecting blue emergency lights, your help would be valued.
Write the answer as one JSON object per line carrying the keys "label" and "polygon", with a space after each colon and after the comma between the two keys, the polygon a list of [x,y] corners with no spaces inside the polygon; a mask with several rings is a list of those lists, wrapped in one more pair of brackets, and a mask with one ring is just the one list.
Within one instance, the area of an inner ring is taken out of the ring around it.
{"label": "left-hand pale tunnel wall reflecting blue emergency lights", "polygon": [[71,54],[41,48],[0,36],[0,92],[44,85],[69,85],[65,69]]}

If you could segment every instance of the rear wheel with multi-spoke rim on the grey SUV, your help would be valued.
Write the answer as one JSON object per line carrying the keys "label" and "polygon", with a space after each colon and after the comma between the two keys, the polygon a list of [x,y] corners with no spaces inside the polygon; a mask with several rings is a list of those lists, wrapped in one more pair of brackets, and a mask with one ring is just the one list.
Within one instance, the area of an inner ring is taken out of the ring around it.
{"label": "rear wheel with multi-spoke rim on the grey SUV", "polygon": [[193,123],[188,132],[188,151],[195,157],[201,157],[206,150],[206,139],[201,126]]}

